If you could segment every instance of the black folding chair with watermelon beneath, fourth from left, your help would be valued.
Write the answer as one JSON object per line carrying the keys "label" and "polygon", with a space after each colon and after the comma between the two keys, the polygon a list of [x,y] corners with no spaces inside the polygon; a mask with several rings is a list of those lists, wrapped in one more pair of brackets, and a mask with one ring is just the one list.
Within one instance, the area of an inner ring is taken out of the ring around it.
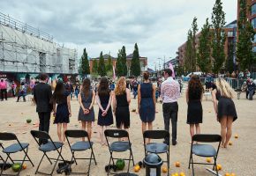
{"label": "black folding chair with watermelon beneath, fourth from left", "polygon": [[[113,152],[124,152],[126,150],[130,150],[130,157],[128,158],[123,158],[124,160],[128,160],[129,164],[128,164],[128,169],[127,169],[127,173],[129,172],[129,168],[130,168],[130,162],[132,160],[132,164],[134,166],[134,159],[133,159],[133,155],[132,155],[132,143],[130,142],[130,137],[127,131],[123,130],[123,129],[106,129],[104,131],[104,134],[106,136],[106,140],[109,146],[109,152],[110,152],[110,158],[109,158],[109,165],[112,163],[113,165],[115,165],[114,159],[118,159],[118,158],[113,158]],[[122,138],[122,137],[127,137],[128,141],[117,141],[114,143],[109,144],[109,137],[111,138]],[[111,172],[112,173],[112,172]],[[109,175],[109,169],[108,169],[108,175]]]}

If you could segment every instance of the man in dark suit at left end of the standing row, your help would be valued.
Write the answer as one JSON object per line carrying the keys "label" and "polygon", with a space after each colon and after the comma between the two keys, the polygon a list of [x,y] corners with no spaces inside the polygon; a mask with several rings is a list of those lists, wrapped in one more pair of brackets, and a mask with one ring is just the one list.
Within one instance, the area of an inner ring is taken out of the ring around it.
{"label": "man in dark suit at left end of the standing row", "polygon": [[[50,99],[52,97],[51,87],[47,84],[48,75],[41,73],[39,84],[34,86],[34,101],[36,104],[36,112],[39,116],[39,130],[49,133],[49,120],[52,105]],[[39,143],[48,143],[48,140],[39,140]]]}

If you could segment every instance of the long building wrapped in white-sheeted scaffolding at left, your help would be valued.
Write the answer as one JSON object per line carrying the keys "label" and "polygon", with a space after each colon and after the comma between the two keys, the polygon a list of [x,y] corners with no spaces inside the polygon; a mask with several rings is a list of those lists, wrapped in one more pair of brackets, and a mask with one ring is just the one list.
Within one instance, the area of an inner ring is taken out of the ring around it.
{"label": "long building wrapped in white-sheeted scaffolding at left", "polygon": [[76,49],[0,12],[0,71],[77,74],[77,58]]}

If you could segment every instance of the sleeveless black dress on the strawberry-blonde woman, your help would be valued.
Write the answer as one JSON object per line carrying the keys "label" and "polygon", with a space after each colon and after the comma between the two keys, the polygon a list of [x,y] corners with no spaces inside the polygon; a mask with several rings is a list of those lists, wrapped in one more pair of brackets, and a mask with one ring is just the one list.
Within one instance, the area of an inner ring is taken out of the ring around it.
{"label": "sleeveless black dress on the strawberry-blonde woman", "polygon": [[124,128],[130,128],[130,111],[127,102],[126,92],[121,95],[116,95],[117,108],[116,108],[116,122],[117,128],[124,124]]}

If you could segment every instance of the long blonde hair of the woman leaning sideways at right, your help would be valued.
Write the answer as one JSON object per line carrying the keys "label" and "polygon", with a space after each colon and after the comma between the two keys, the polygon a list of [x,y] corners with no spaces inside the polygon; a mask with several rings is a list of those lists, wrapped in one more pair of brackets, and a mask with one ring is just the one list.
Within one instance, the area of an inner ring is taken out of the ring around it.
{"label": "long blonde hair of the woman leaning sideways at right", "polygon": [[231,88],[230,84],[225,81],[225,79],[218,77],[216,78],[217,90],[221,93],[221,96],[233,99],[236,92]]}

